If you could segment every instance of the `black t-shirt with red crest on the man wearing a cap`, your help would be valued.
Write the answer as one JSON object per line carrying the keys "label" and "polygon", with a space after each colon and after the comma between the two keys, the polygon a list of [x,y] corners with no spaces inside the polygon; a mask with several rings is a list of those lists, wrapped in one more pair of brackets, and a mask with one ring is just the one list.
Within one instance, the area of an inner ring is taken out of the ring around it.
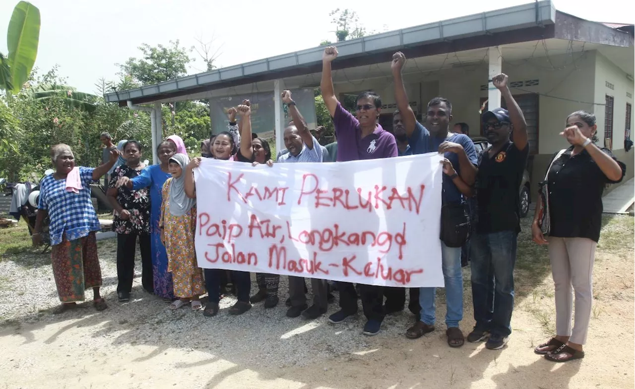
{"label": "black t-shirt with red crest on the man wearing a cap", "polygon": [[508,142],[490,157],[489,149],[478,157],[476,232],[520,232],[520,184],[527,164],[529,143],[518,150]]}

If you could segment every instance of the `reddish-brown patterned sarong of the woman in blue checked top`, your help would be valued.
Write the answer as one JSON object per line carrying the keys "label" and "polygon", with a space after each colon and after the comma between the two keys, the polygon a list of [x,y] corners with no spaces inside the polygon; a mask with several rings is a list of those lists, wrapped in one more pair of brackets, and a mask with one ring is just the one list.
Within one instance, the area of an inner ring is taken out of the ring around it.
{"label": "reddish-brown patterned sarong of the woman in blue checked top", "polygon": [[62,303],[84,301],[86,289],[102,286],[95,232],[70,242],[64,235],[62,243],[51,248],[51,261]]}

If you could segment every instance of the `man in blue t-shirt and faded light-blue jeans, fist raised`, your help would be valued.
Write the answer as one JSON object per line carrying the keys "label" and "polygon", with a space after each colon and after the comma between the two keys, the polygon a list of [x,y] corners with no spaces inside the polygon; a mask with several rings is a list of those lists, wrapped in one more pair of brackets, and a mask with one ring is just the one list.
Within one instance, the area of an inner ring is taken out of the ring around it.
{"label": "man in blue t-shirt and faded light-blue jeans, fist raised", "polygon": [[[445,98],[433,98],[428,103],[425,122],[427,128],[417,122],[415,113],[408,103],[408,95],[403,85],[401,69],[406,62],[403,53],[392,56],[392,76],[395,85],[395,100],[401,121],[406,128],[408,144],[413,154],[427,152],[443,153],[443,201],[445,204],[463,204],[463,196],[472,194],[471,185],[476,178],[476,149],[467,135],[451,133],[452,105]],[[463,319],[463,275],[461,272],[461,247],[448,247],[441,242],[441,262],[443,278],[445,280],[446,313],[445,322],[448,329],[448,345],[460,347],[465,338],[459,322]],[[436,288],[422,287],[419,289],[419,303],[421,306],[420,319],[406,331],[411,339],[420,338],[426,333],[434,331],[436,320]]]}

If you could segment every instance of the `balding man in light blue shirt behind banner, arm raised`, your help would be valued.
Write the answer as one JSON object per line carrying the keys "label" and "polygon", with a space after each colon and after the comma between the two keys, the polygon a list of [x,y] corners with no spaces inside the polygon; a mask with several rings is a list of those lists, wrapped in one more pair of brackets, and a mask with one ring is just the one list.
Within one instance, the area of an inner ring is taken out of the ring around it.
{"label": "balding man in light blue shirt behind banner, arm raised", "polygon": [[[311,135],[307,122],[298,111],[295,102],[291,100],[291,92],[283,91],[282,100],[289,106],[293,124],[284,129],[284,146],[288,152],[279,155],[277,162],[322,162],[322,147],[315,136]],[[288,317],[298,317],[302,314],[302,317],[311,320],[326,313],[328,307],[326,280],[311,279],[311,287],[313,289],[313,305],[308,307],[304,292],[304,278],[289,276],[291,307],[286,312]]]}

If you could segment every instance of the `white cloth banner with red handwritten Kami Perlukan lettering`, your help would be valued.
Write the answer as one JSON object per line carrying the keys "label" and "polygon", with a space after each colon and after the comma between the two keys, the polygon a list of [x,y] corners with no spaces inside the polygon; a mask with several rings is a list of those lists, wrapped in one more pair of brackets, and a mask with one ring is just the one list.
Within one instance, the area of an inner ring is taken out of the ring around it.
{"label": "white cloth banner with red handwritten Kami Perlukan lettering", "polygon": [[443,286],[442,157],[264,165],[203,159],[199,267]]}

